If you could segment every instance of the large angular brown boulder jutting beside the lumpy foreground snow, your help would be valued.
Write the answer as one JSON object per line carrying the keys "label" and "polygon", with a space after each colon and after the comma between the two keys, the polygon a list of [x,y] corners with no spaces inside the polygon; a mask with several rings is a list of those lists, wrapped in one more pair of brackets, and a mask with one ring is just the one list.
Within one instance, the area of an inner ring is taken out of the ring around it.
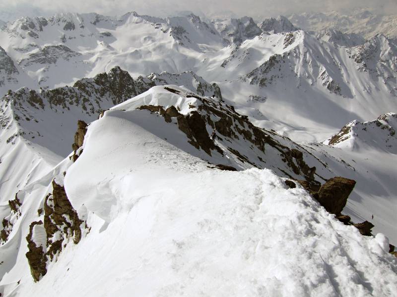
{"label": "large angular brown boulder jutting beside the lumpy foreground snow", "polygon": [[316,198],[327,211],[339,215],[355,184],[356,182],[351,179],[333,177],[321,186]]}

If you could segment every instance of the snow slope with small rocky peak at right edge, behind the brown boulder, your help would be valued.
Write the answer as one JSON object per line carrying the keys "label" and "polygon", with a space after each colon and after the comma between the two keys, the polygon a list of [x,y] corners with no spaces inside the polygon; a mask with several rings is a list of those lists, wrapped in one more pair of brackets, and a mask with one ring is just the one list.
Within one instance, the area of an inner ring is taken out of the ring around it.
{"label": "snow slope with small rocky peak at right edge, behind the brown boulder", "polygon": [[[352,121],[324,144],[304,147],[321,158],[335,175],[357,181],[344,212],[353,221],[371,221],[374,231],[396,236],[396,114],[374,121]],[[371,215],[374,215],[372,219]]]}

